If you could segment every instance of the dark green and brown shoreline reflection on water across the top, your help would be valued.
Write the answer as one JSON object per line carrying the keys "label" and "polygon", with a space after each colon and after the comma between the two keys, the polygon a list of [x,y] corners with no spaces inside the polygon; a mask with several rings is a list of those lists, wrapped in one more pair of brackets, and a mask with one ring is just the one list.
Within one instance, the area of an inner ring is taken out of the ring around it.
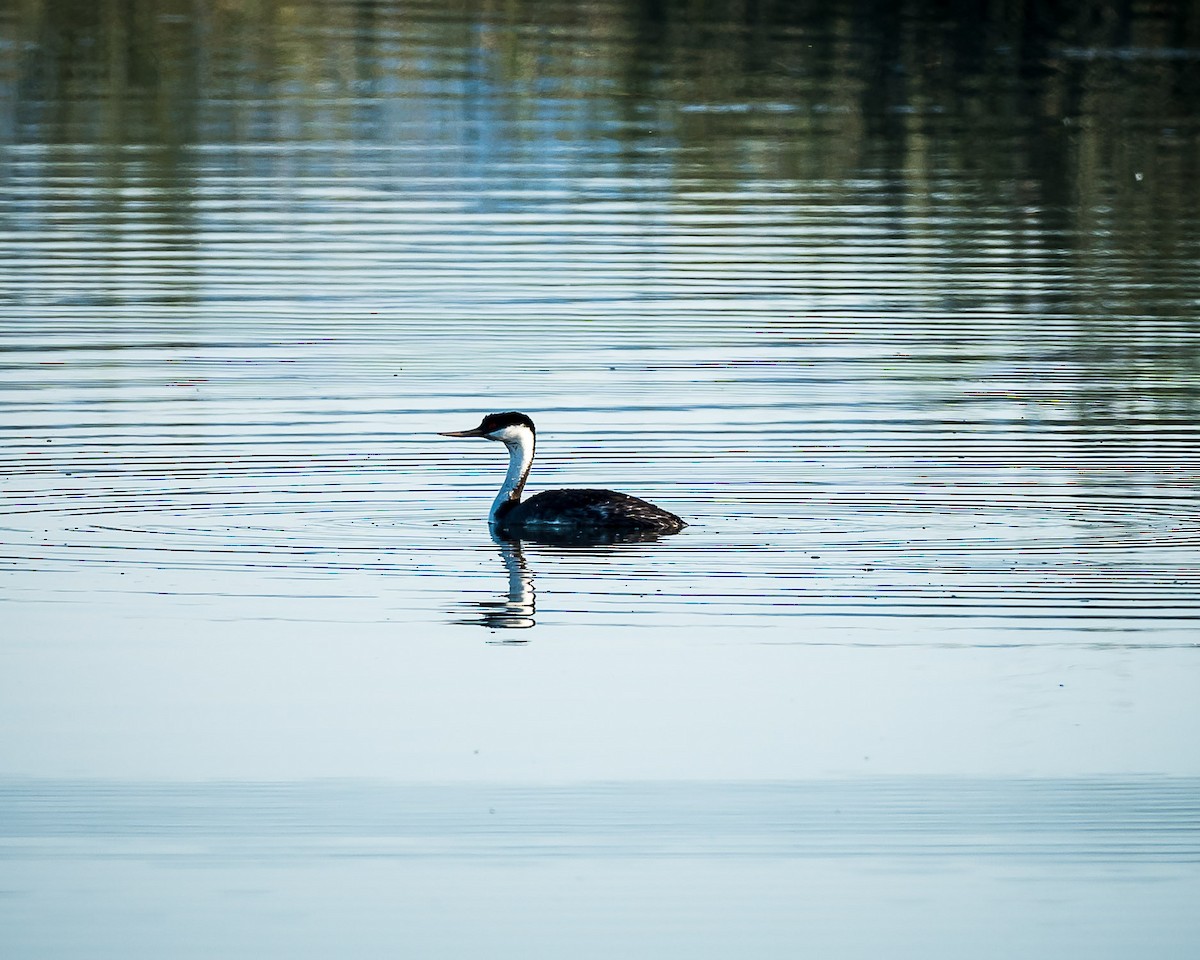
{"label": "dark green and brown shoreline reflection on water across the top", "polygon": [[[800,306],[865,192],[878,250],[859,244],[835,278],[902,251],[881,311],[913,308],[919,282],[953,316],[947,340],[972,331],[968,353],[989,336],[974,318],[1045,316],[1034,359],[1073,384],[1085,427],[1198,416],[1192,4],[26,0],[2,29],[4,139],[61,148],[37,158],[42,184],[88,172],[108,302],[133,220],[156,300],[203,298],[197,188],[214,174],[233,202],[260,178],[539,190],[570,187],[565,169],[685,212],[719,247],[766,203],[791,227],[772,256],[794,259]],[[18,233],[46,229],[28,182],[10,185]],[[638,230],[653,240],[661,217]]]}

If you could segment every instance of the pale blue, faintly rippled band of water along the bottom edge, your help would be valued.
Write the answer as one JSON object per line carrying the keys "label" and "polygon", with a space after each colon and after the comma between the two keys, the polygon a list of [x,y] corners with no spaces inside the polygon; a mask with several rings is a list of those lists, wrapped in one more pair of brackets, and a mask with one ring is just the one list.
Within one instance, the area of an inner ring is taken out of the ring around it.
{"label": "pale blue, faintly rippled band of water along the bottom edge", "polygon": [[10,947],[1186,956],[1196,786],[6,781]]}

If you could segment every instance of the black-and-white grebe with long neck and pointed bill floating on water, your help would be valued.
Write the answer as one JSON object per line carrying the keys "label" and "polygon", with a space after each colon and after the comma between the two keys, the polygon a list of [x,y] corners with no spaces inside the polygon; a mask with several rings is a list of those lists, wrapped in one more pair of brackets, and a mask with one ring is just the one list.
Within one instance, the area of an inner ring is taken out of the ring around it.
{"label": "black-and-white grebe with long neck and pointed bill floating on water", "polygon": [[678,533],[688,524],[653,503],[612,490],[547,490],[522,503],[538,432],[523,413],[490,413],[474,430],[442,437],[482,437],[509,448],[509,473],[487,521],[500,535],[571,534],[612,536]]}

